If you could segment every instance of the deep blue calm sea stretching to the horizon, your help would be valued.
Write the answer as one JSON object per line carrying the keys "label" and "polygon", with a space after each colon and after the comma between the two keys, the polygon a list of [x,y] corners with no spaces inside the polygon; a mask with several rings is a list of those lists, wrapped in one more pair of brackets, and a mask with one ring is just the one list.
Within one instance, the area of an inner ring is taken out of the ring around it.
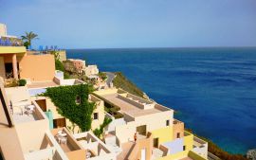
{"label": "deep blue calm sea stretching to the horizon", "polygon": [[226,151],[256,148],[256,48],[73,49],[67,57],[123,72]]}

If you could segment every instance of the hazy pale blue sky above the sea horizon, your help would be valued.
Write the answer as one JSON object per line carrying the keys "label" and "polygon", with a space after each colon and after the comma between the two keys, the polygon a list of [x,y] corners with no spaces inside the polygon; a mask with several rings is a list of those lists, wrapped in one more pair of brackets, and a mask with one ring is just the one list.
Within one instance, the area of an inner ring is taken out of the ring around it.
{"label": "hazy pale blue sky above the sea horizon", "polygon": [[34,47],[256,46],[256,0],[0,0],[0,23]]}

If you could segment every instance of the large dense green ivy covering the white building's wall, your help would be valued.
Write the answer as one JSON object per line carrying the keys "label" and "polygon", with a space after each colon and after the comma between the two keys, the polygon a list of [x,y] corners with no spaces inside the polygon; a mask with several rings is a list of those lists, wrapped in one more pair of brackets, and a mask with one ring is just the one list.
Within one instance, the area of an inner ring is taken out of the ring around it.
{"label": "large dense green ivy covering the white building's wall", "polygon": [[[51,98],[58,107],[58,113],[77,124],[82,132],[89,131],[95,103],[88,101],[93,87],[88,84],[51,87],[46,89],[44,96]],[[80,102],[76,99],[80,97]]]}

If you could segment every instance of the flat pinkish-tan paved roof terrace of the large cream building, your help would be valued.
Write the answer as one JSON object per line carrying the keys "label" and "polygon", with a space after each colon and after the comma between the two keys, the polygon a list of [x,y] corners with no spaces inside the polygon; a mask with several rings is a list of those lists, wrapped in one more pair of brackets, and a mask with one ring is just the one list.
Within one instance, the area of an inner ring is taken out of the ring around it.
{"label": "flat pinkish-tan paved roof terrace of the large cream building", "polygon": [[138,108],[136,105],[129,103],[127,101],[124,101],[121,98],[118,98],[118,93],[115,94],[108,94],[108,95],[101,95],[102,98],[107,100],[109,103],[119,106],[121,113],[126,113],[130,116],[146,116],[151,115],[155,113],[162,112],[159,109],[152,108],[152,109],[141,109]]}

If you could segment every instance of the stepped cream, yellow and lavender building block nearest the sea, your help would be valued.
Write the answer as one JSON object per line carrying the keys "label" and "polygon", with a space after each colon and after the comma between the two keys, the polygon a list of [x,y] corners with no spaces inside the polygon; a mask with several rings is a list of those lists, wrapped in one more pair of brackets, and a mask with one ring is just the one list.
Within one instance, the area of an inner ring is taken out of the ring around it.
{"label": "stepped cream, yellow and lavender building block nearest the sea", "polygon": [[104,100],[109,111],[119,108],[122,115],[106,113],[113,120],[105,129],[104,140],[119,152],[118,159],[207,159],[207,142],[185,132],[184,123],[174,119],[174,110],[121,89],[94,94]]}

